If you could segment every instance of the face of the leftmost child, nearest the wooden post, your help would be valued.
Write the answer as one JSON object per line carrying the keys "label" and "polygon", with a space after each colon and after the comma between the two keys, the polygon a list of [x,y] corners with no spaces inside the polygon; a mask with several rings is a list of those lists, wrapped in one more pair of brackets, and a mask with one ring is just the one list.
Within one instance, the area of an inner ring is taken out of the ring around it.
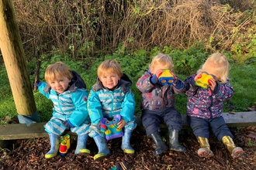
{"label": "face of the leftmost child, nearest the wooden post", "polygon": [[67,79],[66,76],[63,76],[59,79],[51,80],[50,82],[47,82],[52,90],[56,91],[57,93],[63,93],[65,90],[67,90],[68,83],[70,83],[71,80]]}

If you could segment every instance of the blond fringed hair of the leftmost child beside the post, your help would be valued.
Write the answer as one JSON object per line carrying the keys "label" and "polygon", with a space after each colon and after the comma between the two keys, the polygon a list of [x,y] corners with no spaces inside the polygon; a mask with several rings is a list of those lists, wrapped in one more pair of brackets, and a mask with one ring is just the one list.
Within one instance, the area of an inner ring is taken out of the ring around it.
{"label": "blond fringed hair of the leftmost child beside the post", "polygon": [[71,70],[67,67],[66,64],[62,62],[56,62],[47,66],[47,70],[44,73],[44,78],[47,83],[50,83],[53,80],[59,80],[61,77],[67,77],[67,79],[72,79]]}

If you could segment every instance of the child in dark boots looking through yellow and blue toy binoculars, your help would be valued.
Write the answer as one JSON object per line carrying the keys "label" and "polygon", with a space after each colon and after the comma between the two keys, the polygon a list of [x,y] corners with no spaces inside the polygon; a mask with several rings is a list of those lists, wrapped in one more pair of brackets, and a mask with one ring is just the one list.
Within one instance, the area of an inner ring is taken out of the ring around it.
{"label": "child in dark boots looking through yellow and blue toy binoculars", "polygon": [[178,133],[182,130],[182,116],[175,109],[175,93],[184,93],[185,83],[171,72],[173,67],[171,57],[160,53],[154,56],[149,70],[136,84],[142,93],[141,121],[147,135],[150,135],[157,146],[155,156],[168,150],[159,133],[161,123],[168,126],[169,149],[185,151],[185,147],[178,142]]}

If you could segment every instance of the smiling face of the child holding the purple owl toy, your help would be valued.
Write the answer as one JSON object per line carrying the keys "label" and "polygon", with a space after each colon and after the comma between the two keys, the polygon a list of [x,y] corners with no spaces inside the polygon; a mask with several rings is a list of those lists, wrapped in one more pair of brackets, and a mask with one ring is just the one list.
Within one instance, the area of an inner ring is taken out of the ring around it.
{"label": "smiling face of the child holding the purple owl toy", "polygon": [[106,72],[99,77],[99,80],[102,82],[104,87],[112,89],[113,87],[116,87],[118,80],[120,80],[120,77],[117,73]]}

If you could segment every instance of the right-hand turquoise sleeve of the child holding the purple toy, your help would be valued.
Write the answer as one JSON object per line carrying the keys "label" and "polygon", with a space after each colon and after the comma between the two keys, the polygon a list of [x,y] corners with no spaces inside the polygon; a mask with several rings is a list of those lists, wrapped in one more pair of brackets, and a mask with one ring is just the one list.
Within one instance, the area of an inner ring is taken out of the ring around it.
{"label": "right-hand turquoise sleeve of the child holding the purple toy", "polygon": [[133,121],[135,99],[132,90],[128,90],[122,103],[121,117],[127,122]]}

